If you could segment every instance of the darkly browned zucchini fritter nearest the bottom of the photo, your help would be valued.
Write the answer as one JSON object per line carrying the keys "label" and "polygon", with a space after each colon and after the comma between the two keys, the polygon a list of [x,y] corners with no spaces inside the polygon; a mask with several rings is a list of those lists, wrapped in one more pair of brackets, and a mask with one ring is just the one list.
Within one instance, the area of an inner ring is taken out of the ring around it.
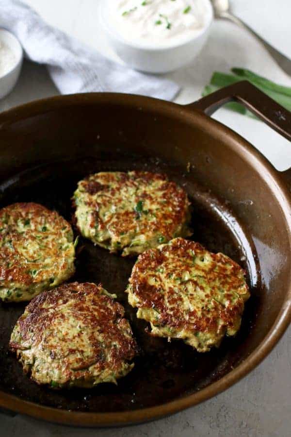
{"label": "darkly browned zucchini fritter nearest the bottom of the photo", "polygon": [[35,297],[18,319],[10,348],[25,373],[52,388],[116,383],[137,346],[124,308],[99,284],[65,284]]}

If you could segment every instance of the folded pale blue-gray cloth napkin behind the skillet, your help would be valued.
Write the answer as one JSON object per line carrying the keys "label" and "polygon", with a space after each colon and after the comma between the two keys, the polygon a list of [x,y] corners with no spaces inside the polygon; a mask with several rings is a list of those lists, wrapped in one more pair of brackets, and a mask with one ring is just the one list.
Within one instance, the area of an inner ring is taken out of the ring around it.
{"label": "folded pale blue-gray cloth napkin behind the skillet", "polygon": [[49,26],[22,1],[0,0],[0,27],[16,35],[28,59],[48,67],[51,79],[63,94],[111,91],[172,100],[179,91],[172,81],[106,59]]}

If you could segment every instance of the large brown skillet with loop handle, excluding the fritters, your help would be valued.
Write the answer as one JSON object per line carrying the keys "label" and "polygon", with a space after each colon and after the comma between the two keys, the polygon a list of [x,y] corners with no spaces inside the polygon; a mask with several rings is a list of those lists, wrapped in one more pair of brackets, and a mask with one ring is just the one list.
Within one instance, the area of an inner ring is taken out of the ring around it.
{"label": "large brown skillet with loop handle, excluding the fritters", "polygon": [[198,354],[180,341],[145,334],[124,294],[134,260],[81,241],[74,279],[101,281],[125,304],[141,346],[136,366],[117,387],[39,387],[22,374],[7,348],[25,305],[0,304],[1,407],[80,426],[153,420],[231,386],[275,346],[291,320],[291,171],[279,173],[241,136],[206,115],[229,100],[241,101],[291,139],[290,113],[246,82],[186,106],[82,94],[0,114],[0,207],[41,202],[69,219],[70,197],[86,174],[162,171],[192,200],[193,238],[244,266],[252,291],[238,336]]}

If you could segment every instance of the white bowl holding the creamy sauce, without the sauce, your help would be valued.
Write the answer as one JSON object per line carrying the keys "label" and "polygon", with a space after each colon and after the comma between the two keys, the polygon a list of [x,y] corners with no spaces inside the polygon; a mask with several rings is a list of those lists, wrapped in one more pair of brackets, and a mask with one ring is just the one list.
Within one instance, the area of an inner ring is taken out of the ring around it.
{"label": "white bowl holding the creamy sauce, without the sauce", "polygon": [[105,30],[109,42],[117,55],[131,68],[147,73],[166,73],[190,64],[204,46],[213,21],[213,9],[210,0],[204,0],[206,6],[206,24],[194,37],[177,45],[155,48],[139,45],[125,40],[114,31],[108,17],[108,0],[99,3],[100,24]]}

